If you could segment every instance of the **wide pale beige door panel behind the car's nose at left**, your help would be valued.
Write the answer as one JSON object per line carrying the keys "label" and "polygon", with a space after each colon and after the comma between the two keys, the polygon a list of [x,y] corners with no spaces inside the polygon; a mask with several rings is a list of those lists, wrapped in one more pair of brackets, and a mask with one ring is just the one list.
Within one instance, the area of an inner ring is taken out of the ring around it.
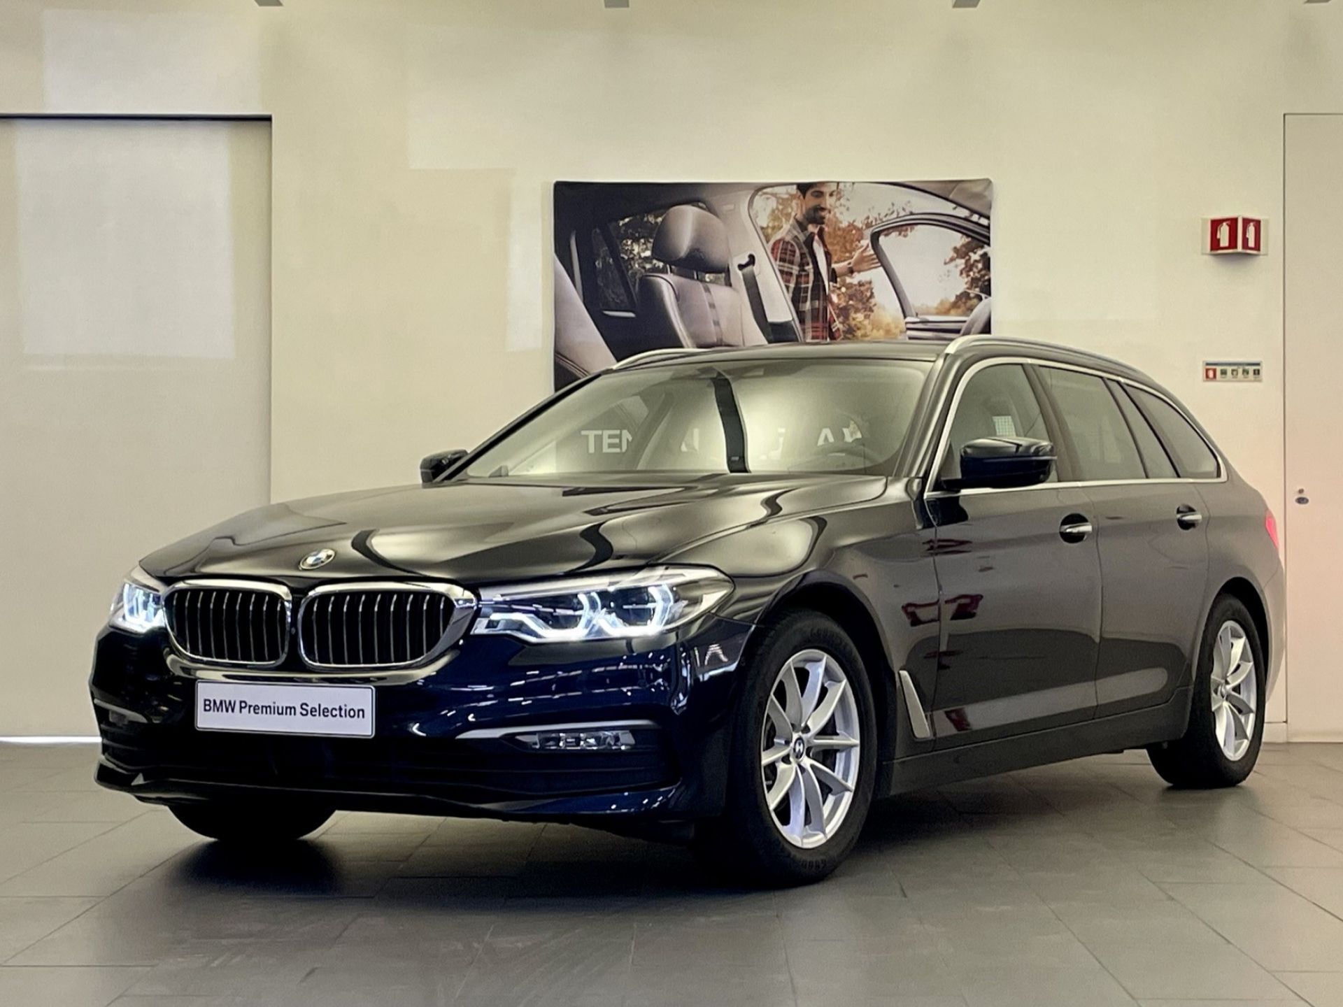
{"label": "wide pale beige door panel behind the car's nose at left", "polygon": [[0,118],[0,736],[93,734],[145,553],[270,494],[270,124]]}

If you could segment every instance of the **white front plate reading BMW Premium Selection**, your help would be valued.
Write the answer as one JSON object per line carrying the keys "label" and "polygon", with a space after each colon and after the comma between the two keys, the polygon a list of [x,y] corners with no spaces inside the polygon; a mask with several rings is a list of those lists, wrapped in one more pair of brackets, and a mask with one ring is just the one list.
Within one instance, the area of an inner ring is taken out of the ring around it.
{"label": "white front plate reading BMW Premium Selection", "polygon": [[196,729],[373,737],[373,687],[196,682]]}

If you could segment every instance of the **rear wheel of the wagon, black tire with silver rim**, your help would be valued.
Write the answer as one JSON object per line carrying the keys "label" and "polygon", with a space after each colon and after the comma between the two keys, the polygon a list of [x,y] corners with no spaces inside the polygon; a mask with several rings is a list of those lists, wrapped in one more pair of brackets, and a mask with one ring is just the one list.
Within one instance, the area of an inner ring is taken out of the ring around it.
{"label": "rear wheel of the wagon, black tire with silver rim", "polygon": [[[1238,649],[1241,659],[1236,661],[1238,639],[1244,639],[1244,646]],[[1254,662],[1253,669],[1244,670],[1246,655]],[[1233,665],[1232,678],[1244,671],[1234,683],[1222,682],[1228,677],[1226,663]],[[1264,644],[1249,610],[1229,595],[1219,596],[1198,649],[1185,737],[1147,749],[1160,777],[1172,787],[1211,788],[1234,787],[1249,776],[1264,741],[1266,674]],[[1246,720],[1252,720],[1248,729]]]}

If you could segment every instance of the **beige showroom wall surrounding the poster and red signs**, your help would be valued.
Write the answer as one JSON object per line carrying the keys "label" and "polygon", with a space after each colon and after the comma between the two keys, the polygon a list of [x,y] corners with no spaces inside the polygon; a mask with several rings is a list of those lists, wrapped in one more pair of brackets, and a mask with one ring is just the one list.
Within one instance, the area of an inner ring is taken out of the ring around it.
{"label": "beige showroom wall surrounding the poster and red signs", "polygon": [[[548,391],[553,179],[988,176],[997,332],[1147,368],[1289,518],[1283,114],[1340,109],[1343,4],[1296,0],[0,5],[0,110],[274,115],[277,498]],[[1265,258],[1198,254],[1228,212]]]}

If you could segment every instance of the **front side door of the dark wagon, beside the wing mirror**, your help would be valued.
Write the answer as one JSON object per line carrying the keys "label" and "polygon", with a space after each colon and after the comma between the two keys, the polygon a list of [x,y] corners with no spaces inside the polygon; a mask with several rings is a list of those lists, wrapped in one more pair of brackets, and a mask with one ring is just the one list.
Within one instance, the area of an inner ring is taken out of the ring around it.
{"label": "front side door of the dark wagon, beside the wing mirror", "polygon": [[936,745],[987,741],[1089,720],[1101,623],[1092,504],[1066,457],[1049,482],[951,489],[979,438],[1054,440],[1037,383],[1019,363],[976,364],[959,383],[925,494],[941,596]]}

